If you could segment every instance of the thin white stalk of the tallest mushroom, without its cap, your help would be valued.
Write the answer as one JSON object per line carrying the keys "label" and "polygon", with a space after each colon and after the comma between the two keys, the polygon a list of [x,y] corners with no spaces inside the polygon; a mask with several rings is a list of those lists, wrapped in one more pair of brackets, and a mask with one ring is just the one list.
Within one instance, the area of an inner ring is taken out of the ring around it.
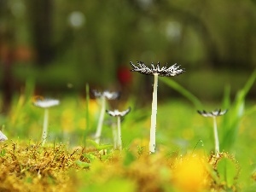
{"label": "thin white stalk of the tallest mushroom, without its cap", "polygon": [[155,132],[156,132],[156,114],[157,114],[157,84],[158,84],[158,73],[154,73],[154,89],[153,89],[153,100],[152,100],[149,154],[152,154],[155,152]]}

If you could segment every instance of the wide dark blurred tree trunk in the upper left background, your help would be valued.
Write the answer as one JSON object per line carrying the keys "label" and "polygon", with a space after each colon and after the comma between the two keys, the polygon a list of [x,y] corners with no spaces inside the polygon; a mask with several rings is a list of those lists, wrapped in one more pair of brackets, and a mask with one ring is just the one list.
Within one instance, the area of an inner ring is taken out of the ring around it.
{"label": "wide dark blurred tree trunk in the upper left background", "polygon": [[55,49],[52,42],[53,1],[30,0],[28,7],[31,18],[32,42],[37,54],[37,64],[44,67],[49,65],[49,62],[55,56]]}

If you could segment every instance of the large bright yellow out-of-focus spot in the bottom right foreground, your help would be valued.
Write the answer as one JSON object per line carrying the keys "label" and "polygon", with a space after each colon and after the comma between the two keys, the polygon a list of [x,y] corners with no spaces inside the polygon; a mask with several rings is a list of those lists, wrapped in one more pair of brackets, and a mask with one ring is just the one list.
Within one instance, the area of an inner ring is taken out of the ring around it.
{"label": "large bright yellow out-of-focus spot in the bottom right foreground", "polygon": [[190,154],[177,160],[173,183],[183,192],[202,191],[207,184],[207,161],[202,155]]}

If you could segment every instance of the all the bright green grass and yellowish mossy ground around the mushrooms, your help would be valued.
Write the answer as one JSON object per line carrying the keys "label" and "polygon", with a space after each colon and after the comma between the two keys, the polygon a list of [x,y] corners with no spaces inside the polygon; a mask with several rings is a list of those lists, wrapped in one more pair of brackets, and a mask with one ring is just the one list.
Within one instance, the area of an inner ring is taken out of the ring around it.
{"label": "all the bright green grass and yellowish mossy ground around the mushrooms", "polygon": [[73,95],[63,96],[61,105],[52,108],[43,147],[42,110],[32,106],[30,84],[27,92],[15,97],[9,114],[0,114],[2,131],[9,137],[0,143],[0,191],[253,191],[256,105],[246,96],[255,76],[234,101],[227,88],[223,103],[205,106],[230,109],[229,115],[217,119],[219,159],[212,154],[212,120],[196,113],[201,102],[177,84],[184,99],[159,102],[157,153],[152,155],[148,154],[150,103],[145,108],[125,103],[132,111],[122,122],[124,149],[119,152],[111,149],[111,125],[103,125],[100,145],[91,140],[99,103]]}

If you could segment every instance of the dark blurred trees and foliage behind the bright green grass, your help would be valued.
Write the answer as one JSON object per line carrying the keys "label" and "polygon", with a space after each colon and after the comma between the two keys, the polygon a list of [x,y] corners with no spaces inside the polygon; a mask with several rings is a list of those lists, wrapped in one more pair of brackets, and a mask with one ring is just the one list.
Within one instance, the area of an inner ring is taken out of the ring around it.
{"label": "dark blurred trees and foliage behind the bright green grass", "polygon": [[[28,79],[38,95],[89,83],[150,99],[153,79],[129,61],[182,65],[175,80],[201,100],[218,101],[226,85],[234,96],[255,67],[255,23],[255,0],[0,0],[3,103]],[[160,93],[179,96],[161,83]]]}

